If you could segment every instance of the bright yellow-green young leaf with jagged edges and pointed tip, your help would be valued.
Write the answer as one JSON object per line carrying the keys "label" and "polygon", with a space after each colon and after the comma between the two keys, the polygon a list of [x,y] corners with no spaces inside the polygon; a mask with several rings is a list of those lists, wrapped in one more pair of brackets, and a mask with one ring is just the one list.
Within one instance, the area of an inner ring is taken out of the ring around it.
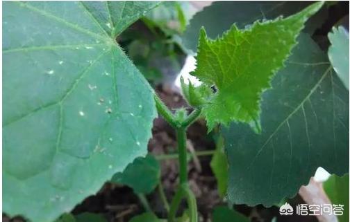
{"label": "bright yellow-green young leaf with jagged edges and pointed tip", "polygon": [[214,41],[201,29],[197,68],[191,74],[208,86],[215,84],[218,90],[203,107],[209,130],[216,123],[235,120],[260,131],[261,93],[283,67],[305,21],[321,6],[317,2],[288,18],[257,21],[244,30],[233,25]]}

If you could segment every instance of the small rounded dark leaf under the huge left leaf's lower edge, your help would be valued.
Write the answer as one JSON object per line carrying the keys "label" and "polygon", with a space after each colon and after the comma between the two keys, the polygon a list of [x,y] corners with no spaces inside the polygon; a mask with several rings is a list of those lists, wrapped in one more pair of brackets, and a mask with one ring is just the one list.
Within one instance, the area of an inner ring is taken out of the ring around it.
{"label": "small rounded dark leaf under the huge left leaf's lower edge", "polygon": [[[142,180],[140,180],[142,178]],[[133,188],[136,193],[148,194],[160,181],[160,165],[151,155],[136,158],[124,172],[113,176],[113,183],[122,183]]]}

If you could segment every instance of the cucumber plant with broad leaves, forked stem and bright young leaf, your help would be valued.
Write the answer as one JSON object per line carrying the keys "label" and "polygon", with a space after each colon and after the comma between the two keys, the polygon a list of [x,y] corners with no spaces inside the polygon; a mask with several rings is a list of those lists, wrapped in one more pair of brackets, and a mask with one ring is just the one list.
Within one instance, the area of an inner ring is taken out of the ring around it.
{"label": "cucumber plant with broad leaves, forked stem and bright young leaf", "polygon": [[[349,172],[349,64],[337,53],[339,39],[349,44],[349,36],[342,29],[330,34],[330,63],[301,33],[322,2],[245,27],[231,22],[217,39],[201,28],[191,74],[202,84],[181,81],[191,113],[170,111],[116,41],[157,5],[3,3],[4,212],[53,221],[110,180],[149,192],[159,181],[159,166],[140,156],[147,154],[157,111],[178,142],[180,184],[169,205],[170,222],[183,199],[190,221],[198,219],[188,185],[186,130],[200,117],[209,131],[223,126],[231,203],[278,203],[319,166]],[[147,175],[138,169],[147,167],[149,186],[128,175]],[[220,212],[231,214],[219,208],[215,215]]]}

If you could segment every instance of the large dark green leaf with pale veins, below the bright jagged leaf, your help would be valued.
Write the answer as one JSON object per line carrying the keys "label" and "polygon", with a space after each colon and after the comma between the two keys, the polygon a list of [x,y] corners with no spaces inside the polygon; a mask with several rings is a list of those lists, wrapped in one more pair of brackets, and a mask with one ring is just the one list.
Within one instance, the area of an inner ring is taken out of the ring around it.
{"label": "large dark green leaf with pale veins, below the bright jagged leaf", "polygon": [[272,88],[260,135],[245,124],[223,130],[232,203],[273,205],[297,194],[317,167],[349,171],[349,91],[310,37],[300,36]]}

